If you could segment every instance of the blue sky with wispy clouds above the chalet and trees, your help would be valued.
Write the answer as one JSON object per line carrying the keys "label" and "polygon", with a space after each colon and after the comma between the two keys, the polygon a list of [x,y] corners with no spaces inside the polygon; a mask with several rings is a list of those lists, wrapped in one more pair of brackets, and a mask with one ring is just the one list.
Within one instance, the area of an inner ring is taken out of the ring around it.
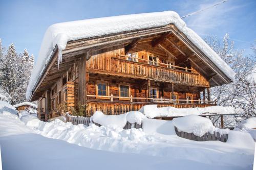
{"label": "blue sky with wispy clouds above the chalet and trees", "polygon": [[[172,10],[180,16],[221,2],[218,1],[3,1],[0,0],[0,38],[17,52],[27,48],[35,58],[46,29],[57,22]],[[184,18],[187,26],[202,38],[229,33],[236,47],[249,54],[256,40],[256,1],[229,0],[217,7]]]}

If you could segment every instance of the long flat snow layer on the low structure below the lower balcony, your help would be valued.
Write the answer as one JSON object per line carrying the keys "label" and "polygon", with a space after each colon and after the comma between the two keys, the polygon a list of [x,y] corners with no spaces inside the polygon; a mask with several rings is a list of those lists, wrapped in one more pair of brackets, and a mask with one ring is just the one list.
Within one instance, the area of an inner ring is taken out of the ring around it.
{"label": "long flat snow layer on the low structure below the lower balcony", "polygon": [[185,116],[189,114],[211,114],[211,113],[219,113],[219,114],[233,114],[235,113],[235,109],[231,106],[209,106],[204,108],[175,108],[175,107],[160,107],[157,105],[145,105],[139,110],[148,118],[153,118],[157,116]]}

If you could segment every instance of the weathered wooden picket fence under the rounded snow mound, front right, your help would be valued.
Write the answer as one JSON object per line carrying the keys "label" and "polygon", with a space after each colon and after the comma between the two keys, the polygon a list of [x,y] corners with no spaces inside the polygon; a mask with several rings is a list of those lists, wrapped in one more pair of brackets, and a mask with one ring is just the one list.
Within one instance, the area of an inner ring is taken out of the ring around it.
{"label": "weathered wooden picket fence under the rounded snow mound, front right", "polygon": [[185,138],[185,139],[190,139],[190,140],[195,140],[195,141],[207,141],[207,140],[219,140],[222,142],[226,142],[228,139],[228,134],[222,134],[220,135],[219,132],[214,132],[214,134],[206,133],[203,136],[196,136],[194,133],[187,133],[187,132],[179,132],[176,127],[175,132],[177,136]]}

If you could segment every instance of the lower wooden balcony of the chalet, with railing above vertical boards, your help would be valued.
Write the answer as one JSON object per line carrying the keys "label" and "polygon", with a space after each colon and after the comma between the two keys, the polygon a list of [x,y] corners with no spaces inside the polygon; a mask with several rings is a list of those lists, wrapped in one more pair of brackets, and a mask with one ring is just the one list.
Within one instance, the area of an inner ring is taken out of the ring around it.
{"label": "lower wooden balcony of the chalet, with railing above vertical boards", "polygon": [[[96,95],[87,95],[88,97],[96,97]],[[124,98],[120,96],[103,96],[109,98],[109,101],[87,100],[87,116],[91,116],[95,111],[100,110],[104,114],[123,114],[129,111],[139,110],[144,105],[157,105],[158,107],[172,106],[176,108],[194,108],[216,106],[217,101],[201,101],[201,100],[172,100],[172,99],[153,99],[153,98],[133,98],[132,96],[126,102],[114,101],[114,98]],[[138,102],[141,101],[141,102]]]}

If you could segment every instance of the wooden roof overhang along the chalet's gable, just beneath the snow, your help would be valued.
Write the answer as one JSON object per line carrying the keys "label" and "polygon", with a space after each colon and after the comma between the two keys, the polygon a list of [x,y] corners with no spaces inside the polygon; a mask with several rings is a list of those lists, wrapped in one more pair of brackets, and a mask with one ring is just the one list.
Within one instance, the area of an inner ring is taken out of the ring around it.
{"label": "wooden roof overhang along the chalet's gable, just beneath the snow", "polygon": [[[179,38],[194,55],[189,57],[190,61],[199,62],[199,69],[211,72],[211,77],[209,78],[210,86],[218,86],[222,84],[227,84],[232,82],[232,80],[224,74],[224,72],[212,62],[200,49],[191,42],[186,35],[184,35],[174,24],[169,24],[163,27],[156,27],[150,29],[141,29],[126,31],[116,34],[84,38],[75,41],[69,41],[65,50],[62,51],[62,63],[59,63],[59,68],[57,67],[57,57],[58,57],[58,47],[55,46],[48,62],[46,63],[42,74],[38,77],[35,83],[32,93],[30,94],[29,101],[35,101],[39,98],[44,90],[47,90],[51,85],[56,83],[56,81],[48,81],[48,85],[42,85],[44,81],[47,80],[47,75],[53,74],[53,70],[58,70],[55,78],[60,78],[61,74],[65,72],[66,67],[70,66],[72,62],[79,59],[81,55],[93,50],[100,50],[105,47],[116,46],[120,44],[131,43],[134,39],[143,39],[150,36],[160,35],[166,32],[174,34]],[[87,58],[89,60],[90,58]]]}

